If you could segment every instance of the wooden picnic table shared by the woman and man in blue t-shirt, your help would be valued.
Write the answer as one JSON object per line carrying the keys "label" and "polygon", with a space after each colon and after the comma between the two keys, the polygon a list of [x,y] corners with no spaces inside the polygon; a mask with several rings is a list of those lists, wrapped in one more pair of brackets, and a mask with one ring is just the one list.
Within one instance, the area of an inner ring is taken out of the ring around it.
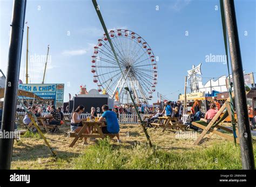
{"label": "wooden picnic table shared by the woman and man in blue t-shirt", "polygon": [[[104,121],[82,121],[83,127],[81,130],[77,132],[68,132],[69,137],[74,138],[73,141],[70,143],[69,147],[73,147],[78,139],[83,138],[106,138],[107,135],[114,135],[114,134],[103,134],[102,128],[105,126]],[[92,127],[91,134],[85,134],[85,130],[87,127]]]}

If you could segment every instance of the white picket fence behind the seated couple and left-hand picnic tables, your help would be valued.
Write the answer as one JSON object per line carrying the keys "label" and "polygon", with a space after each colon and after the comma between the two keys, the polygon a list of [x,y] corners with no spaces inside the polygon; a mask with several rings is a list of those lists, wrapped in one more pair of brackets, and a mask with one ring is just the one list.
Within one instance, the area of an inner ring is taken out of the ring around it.
{"label": "white picket fence behind the seated couple and left-hand picnic tables", "polygon": [[[19,115],[24,116],[26,112],[17,112]],[[49,112],[42,113],[42,116],[45,114],[49,114]],[[71,113],[63,113],[64,115],[71,115]],[[102,114],[98,114],[98,117],[102,116]],[[143,118],[143,114],[140,115]],[[91,117],[90,113],[82,113],[81,118]],[[126,114],[120,113],[118,117],[118,122],[121,124],[137,124],[138,123],[138,116],[137,114]]]}

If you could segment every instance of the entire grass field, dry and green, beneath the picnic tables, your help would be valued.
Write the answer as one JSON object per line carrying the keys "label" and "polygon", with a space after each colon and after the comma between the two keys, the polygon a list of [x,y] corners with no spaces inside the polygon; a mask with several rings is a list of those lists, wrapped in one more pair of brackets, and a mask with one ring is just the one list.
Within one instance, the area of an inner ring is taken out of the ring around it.
{"label": "entire grass field, dry and green, beneath the picnic tables", "polygon": [[[153,152],[146,145],[142,128],[136,124],[120,125],[120,139],[78,141],[72,148],[72,138],[65,136],[68,126],[56,134],[45,133],[57,152],[51,157],[48,147],[39,134],[27,132],[14,143],[12,169],[241,169],[240,147],[234,142],[213,135],[201,145],[193,145],[198,132],[180,134],[149,128],[154,145]],[[254,138],[255,139],[255,138]],[[254,140],[254,156],[256,143]],[[256,158],[255,158],[256,160]]]}

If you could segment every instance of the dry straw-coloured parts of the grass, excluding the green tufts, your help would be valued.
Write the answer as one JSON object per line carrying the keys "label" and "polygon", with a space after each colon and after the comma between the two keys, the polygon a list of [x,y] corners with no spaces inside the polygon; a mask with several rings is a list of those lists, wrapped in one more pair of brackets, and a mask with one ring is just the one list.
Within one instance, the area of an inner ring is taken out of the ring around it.
{"label": "dry straw-coloured parts of the grass, excluding the green tufts", "polygon": [[[43,139],[38,138],[37,135],[32,136],[31,138],[22,138],[20,141],[14,143],[14,153],[12,157],[12,169],[86,169],[86,167],[79,167],[78,162],[83,159],[83,156],[86,153],[93,154],[99,152],[93,152],[94,148],[98,146],[96,142],[88,141],[88,146],[82,146],[82,140],[78,140],[76,145],[72,148],[69,147],[73,138],[68,138],[65,136],[65,132],[69,131],[68,126],[62,126],[60,128],[60,132],[55,134],[45,133],[44,135],[48,139],[50,145],[57,152],[57,157],[51,157],[49,148],[45,145]],[[230,152],[236,152],[235,157],[237,157],[237,161],[239,161],[239,147],[235,147],[234,143],[228,142],[227,140],[220,138],[220,136],[213,135],[210,140],[205,141],[199,146],[195,146],[194,139],[177,139],[177,134],[175,131],[167,130],[164,133],[161,132],[160,129],[153,130],[153,128],[149,128],[148,132],[151,136],[151,141],[155,146],[156,150],[160,151],[160,153],[173,154],[176,155],[193,155],[198,156],[197,153],[200,153],[202,150],[206,150],[206,154],[211,152],[214,154],[215,152],[220,153],[218,156],[221,156],[222,150],[225,149],[226,146],[229,147]],[[189,131],[190,133],[194,133],[193,131]],[[199,135],[199,133],[196,133]],[[30,136],[27,136],[30,137]],[[110,154],[114,151],[118,151],[118,154],[133,154],[134,146],[146,143],[145,135],[142,131],[142,128],[136,124],[122,124],[120,126],[120,139],[122,140],[121,144],[117,144],[116,138],[111,140],[111,148],[107,150]],[[216,145],[222,145],[223,147],[216,147]],[[136,147],[136,146],[135,146]],[[255,143],[254,143],[255,148]],[[216,150],[215,150],[216,149]],[[93,150],[93,151],[92,151]],[[114,151],[112,151],[114,150]],[[255,149],[254,149],[255,150]],[[139,153],[140,154],[140,153]],[[123,155],[126,156],[126,155]],[[159,155],[158,155],[159,156]],[[217,156],[217,157],[218,157]],[[224,155],[225,156],[225,155]],[[96,157],[96,155],[95,155]],[[212,155],[211,155],[212,157]],[[167,156],[168,158],[168,156]],[[133,166],[130,161],[131,157],[125,157],[120,162],[129,163],[124,169],[142,169],[140,166]],[[137,158],[138,159],[138,158]],[[152,159],[152,158],[151,158]],[[153,158],[154,159],[154,158]],[[212,158],[210,158],[212,159]],[[174,159],[175,163],[171,168],[174,169],[184,169],[184,166],[181,166],[183,159],[181,160]],[[139,161],[138,161],[139,162]],[[227,166],[229,161],[227,160]],[[137,164],[137,163],[136,163]],[[179,166],[180,164],[180,166]],[[113,165],[113,164],[112,164]],[[239,165],[239,164],[237,164]],[[224,167],[225,166],[221,166]],[[109,168],[108,166],[102,168]],[[186,167],[187,168],[187,167]],[[200,164],[194,163],[193,166],[189,166],[191,169],[200,169],[207,168],[204,166],[200,166]],[[212,168],[212,166],[211,166]],[[234,169],[240,168],[240,166],[235,166]],[[93,169],[93,168],[92,168]],[[99,169],[99,168],[95,168]],[[111,169],[123,169],[122,164],[120,167],[114,167]],[[161,169],[161,168],[156,168]]]}

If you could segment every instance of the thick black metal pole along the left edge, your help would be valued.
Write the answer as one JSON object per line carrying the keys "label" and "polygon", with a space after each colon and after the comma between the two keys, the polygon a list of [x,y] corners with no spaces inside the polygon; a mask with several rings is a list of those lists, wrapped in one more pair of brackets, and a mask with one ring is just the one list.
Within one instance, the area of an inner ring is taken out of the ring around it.
{"label": "thick black metal pole along the left edge", "polygon": [[[14,1],[1,130],[5,134],[14,131],[25,10],[26,0]],[[0,139],[0,169],[11,168],[13,142],[11,138]]]}

